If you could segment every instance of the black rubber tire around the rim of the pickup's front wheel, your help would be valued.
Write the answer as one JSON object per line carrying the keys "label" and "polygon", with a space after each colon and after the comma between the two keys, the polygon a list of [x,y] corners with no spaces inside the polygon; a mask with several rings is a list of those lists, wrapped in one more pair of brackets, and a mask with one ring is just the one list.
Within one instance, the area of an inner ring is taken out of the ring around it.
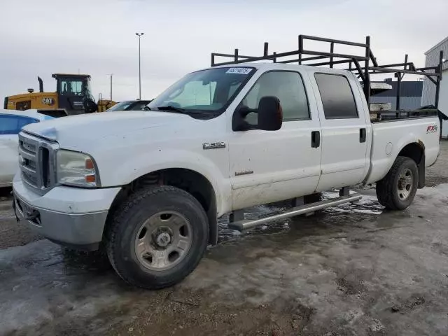
{"label": "black rubber tire around the rim of the pickup's front wheel", "polygon": [[[182,214],[193,229],[193,241],[177,265],[153,270],[138,261],[134,239],[142,223],[160,211]],[[147,187],[130,195],[114,211],[105,232],[106,252],[118,275],[132,286],[146,289],[165,288],[182,281],[199,264],[208,238],[209,223],[201,204],[186,191],[171,186]]]}

